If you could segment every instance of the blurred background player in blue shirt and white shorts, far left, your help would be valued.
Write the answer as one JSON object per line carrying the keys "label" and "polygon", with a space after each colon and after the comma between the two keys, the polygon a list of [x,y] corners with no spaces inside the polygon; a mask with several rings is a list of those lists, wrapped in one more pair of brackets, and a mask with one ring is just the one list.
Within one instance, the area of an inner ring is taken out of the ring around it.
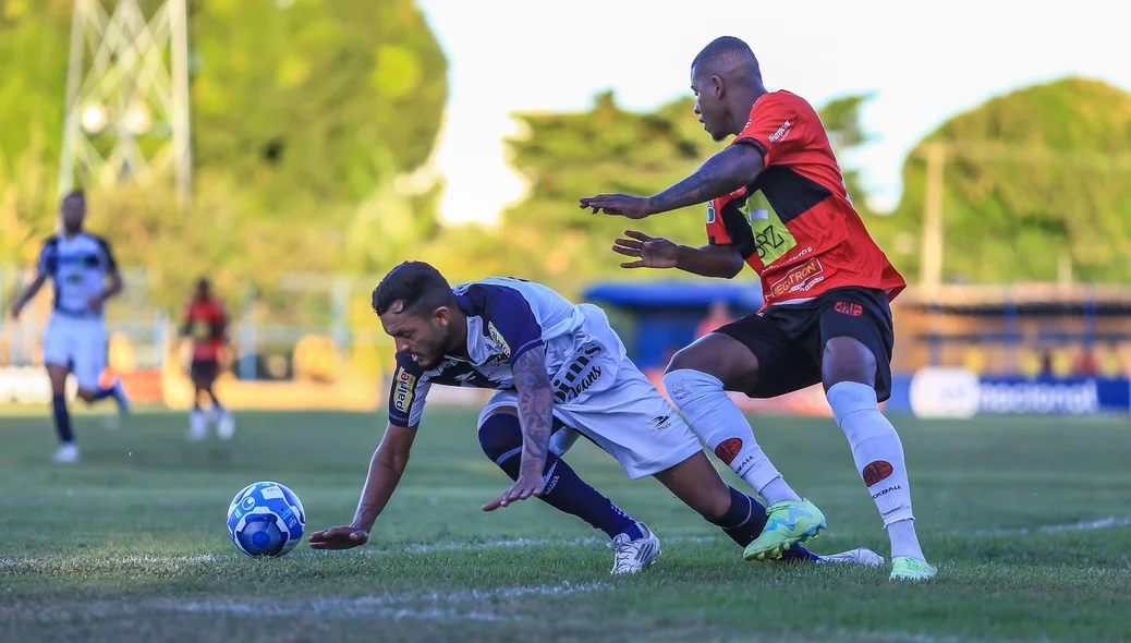
{"label": "blurred background player in blue shirt and white shorts, far left", "polygon": [[54,284],[55,302],[43,337],[43,362],[51,378],[52,406],[55,430],[59,434],[57,463],[78,462],[78,446],[67,409],[67,376],[75,374],[78,396],[87,403],[107,397],[118,402],[121,414],[128,414],[130,402],[116,379],[113,386],[103,387],[106,370],[107,340],[103,308],[106,300],[122,290],[122,277],[110,250],[101,237],[83,230],[86,218],[86,197],[74,191],[63,198],[63,233],[51,237],[40,252],[35,281],[11,307],[12,318],[35,297],[50,278]]}

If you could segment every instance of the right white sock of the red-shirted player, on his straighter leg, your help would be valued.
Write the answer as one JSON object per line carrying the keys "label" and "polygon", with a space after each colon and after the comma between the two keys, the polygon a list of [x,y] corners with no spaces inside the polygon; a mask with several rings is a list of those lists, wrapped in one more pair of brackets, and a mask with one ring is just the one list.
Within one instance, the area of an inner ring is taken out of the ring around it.
{"label": "right white sock of the red-shirted player, on his straighter leg", "polygon": [[866,384],[841,381],[829,388],[828,400],[837,425],[848,438],[856,470],[883,517],[891,539],[891,556],[925,560],[915,535],[904,445],[896,428],[880,412],[875,391]]}

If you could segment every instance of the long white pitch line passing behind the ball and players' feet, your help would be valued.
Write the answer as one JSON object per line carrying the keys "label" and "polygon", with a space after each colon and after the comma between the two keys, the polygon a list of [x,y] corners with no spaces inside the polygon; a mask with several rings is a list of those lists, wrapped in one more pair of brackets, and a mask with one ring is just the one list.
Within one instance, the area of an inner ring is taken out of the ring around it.
{"label": "long white pitch line passing behind the ball and players' feet", "polygon": [[[993,529],[983,531],[948,531],[938,533],[947,537],[995,537],[1038,535],[1048,533],[1087,532],[1107,529],[1131,528],[1131,516],[1108,516],[1095,521],[1083,521],[1068,524],[1050,524],[1033,528]],[[664,545],[703,543],[720,540],[714,535],[682,537],[674,535],[662,539]],[[287,558],[313,558],[321,556],[398,556],[405,554],[440,554],[444,551],[491,551],[497,549],[523,549],[541,547],[592,547],[607,542],[602,538],[571,539],[526,539],[486,540],[483,542],[439,542],[431,545],[409,545],[398,549],[351,549],[347,551],[307,550],[287,556]],[[114,571],[130,565],[195,565],[200,563],[221,563],[243,558],[239,554],[196,554],[191,556],[126,556],[115,558],[52,558],[25,557],[0,558],[0,574],[16,574],[36,571],[59,571],[76,567],[76,571],[89,572],[92,567]]]}

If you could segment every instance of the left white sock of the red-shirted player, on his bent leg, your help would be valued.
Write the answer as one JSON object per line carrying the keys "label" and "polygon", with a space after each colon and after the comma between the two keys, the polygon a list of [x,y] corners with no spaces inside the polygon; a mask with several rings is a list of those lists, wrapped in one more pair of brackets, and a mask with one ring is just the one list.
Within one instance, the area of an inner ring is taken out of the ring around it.
{"label": "left white sock of the red-shirted player, on his bent leg", "polygon": [[801,500],[758,446],[750,422],[717,377],[691,369],[673,370],[664,376],[664,387],[691,430],[767,504]]}

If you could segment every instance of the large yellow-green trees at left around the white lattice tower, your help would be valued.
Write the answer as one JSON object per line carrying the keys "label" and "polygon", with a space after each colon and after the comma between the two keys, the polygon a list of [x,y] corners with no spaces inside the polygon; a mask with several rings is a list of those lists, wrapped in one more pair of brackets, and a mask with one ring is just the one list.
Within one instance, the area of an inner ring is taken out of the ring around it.
{"label": "large yellow-green trees at left around the white lattice tower", "polygon": [[[54,229],[71,6],[0,2],[0,251],[25,265]],[[198,0],[189,18],[190,208],[170,180],[90,198],[159,303],[205,273],[269,298],[284,274],[378,269],[434,234],[441,186],[402,178],[434,146],[447,61],[413,0]]]}

